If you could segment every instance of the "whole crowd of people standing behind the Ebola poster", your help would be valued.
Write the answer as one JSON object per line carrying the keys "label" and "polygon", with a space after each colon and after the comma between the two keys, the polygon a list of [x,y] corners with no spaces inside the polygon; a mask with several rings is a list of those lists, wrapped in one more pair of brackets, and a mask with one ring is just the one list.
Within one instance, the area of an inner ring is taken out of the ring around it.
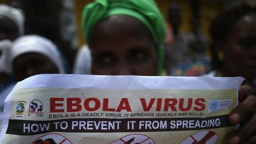
{"label": "whole crowd of people standing behind the Ebola poster", "polygon": [[[16,82],[42,73],[242,76],[245,84],[256,88],[255,6],[242,3],[219,11],[208,40],[196,17],[186,22],[191,32],[181,31],[180,5],[169,5],[164,19],[153,0],[111,5],[113,1],[85,6],[78,18],[85,44],[77,53],[77,34],[70,22],[74,13],[62,11],[64,19],[56,20],[64,21],[59,34],[69,41],[65,45],[51,37],[58,35],[54,29],[43,27],[37,33],[37,28],[25,26],[37,16],[28,16],[22,3],[0,4],[0,109]],[[41,23],[45,22],[36,24]],[[67,46],[72,50],[65,50]]]}

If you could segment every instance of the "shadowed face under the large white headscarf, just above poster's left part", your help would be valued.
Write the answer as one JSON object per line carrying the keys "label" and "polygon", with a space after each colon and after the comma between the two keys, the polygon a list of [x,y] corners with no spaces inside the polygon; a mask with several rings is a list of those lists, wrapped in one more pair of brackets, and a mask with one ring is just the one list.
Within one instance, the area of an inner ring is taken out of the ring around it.
{"label": "shadowed face under the large white headscarf, just above poster's left part", "polygon": [[25,53],[13,61],[14,78],[16,82],[32,75],[43,73],[59,73],[53,62],[40,53]]}

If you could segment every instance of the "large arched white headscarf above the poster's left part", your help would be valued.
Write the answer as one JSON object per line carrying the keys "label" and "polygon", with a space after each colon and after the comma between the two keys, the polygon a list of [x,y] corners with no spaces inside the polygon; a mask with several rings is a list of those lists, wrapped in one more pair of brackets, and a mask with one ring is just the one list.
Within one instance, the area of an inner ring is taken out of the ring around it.
{"label": "large arched white headscarf above the poster's left part", "polygon": [[27,35],[19,37],[14,41],[11,48],[11,64],[13,60],[24,53],[41,53],[48,57],[53,64],[59,69],[60,73],[65,73],[62,56],[55,44],[39,35]]}

